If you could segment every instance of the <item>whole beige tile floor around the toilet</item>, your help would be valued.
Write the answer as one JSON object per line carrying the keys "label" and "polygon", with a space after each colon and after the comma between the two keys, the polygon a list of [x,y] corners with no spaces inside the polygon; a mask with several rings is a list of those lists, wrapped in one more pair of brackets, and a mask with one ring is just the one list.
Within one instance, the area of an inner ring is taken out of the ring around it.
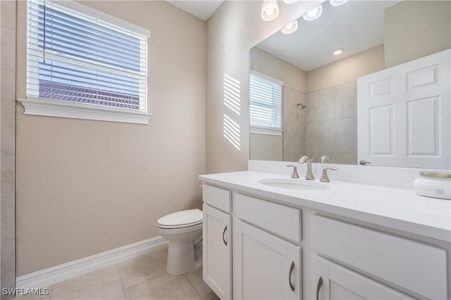
{"label": "whole beige tile floor around the toilet", "polygon": [[51,286],[49,296],[17,296],[14,300],[199,299],[218,296],[202,280],[202,268],[186,275],[166,273],[167,249],[94,270]]}

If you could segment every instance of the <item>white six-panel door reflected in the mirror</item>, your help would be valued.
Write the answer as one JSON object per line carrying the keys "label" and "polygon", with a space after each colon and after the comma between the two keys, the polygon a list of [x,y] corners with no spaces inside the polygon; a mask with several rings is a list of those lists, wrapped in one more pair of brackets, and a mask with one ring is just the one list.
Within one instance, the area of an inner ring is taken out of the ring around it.
{"label": "white six-panel door reflected in the mirror", "polygon": [[451,49],[357,79],[358,159],[451,169]]}

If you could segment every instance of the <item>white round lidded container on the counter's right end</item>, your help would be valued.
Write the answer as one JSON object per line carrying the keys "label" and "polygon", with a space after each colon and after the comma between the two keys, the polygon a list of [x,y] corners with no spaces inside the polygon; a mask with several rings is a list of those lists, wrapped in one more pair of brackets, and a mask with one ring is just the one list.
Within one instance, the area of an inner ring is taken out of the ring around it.
{"label": "white round lidded container on the counter's right end", "polygon": [[451,173],[420,172],[414,180],[414,193],[426,197],[451,199]]}

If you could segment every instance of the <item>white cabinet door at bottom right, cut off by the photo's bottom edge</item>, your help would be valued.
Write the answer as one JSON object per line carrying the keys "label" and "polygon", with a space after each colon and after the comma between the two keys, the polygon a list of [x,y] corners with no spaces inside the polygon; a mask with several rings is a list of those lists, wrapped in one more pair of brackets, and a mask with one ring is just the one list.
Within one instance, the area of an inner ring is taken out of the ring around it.
{"label": "white cabinet door at bottom right, cut off by the photo's bottom edge", "polygon": [[315,257],[316,300],[412,299],[378,282]]}

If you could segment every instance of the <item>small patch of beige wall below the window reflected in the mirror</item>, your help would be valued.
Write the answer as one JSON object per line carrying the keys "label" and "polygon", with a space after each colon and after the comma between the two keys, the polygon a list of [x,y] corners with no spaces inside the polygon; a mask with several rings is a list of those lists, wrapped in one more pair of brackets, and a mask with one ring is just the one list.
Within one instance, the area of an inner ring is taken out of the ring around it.
{"label": "small patch of beige wall below the window reflected in the mirror", "polygon": [[251,159],[283,160],[282,136],[250,135]]}

